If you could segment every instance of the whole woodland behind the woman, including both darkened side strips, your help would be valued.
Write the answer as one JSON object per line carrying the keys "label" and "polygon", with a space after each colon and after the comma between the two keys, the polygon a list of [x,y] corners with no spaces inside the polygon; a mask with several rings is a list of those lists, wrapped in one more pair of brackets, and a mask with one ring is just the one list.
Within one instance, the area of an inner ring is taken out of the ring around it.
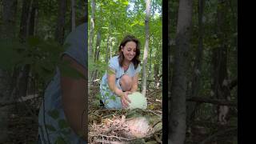
{"label": "whole woodland behind the woman, including both darkened side strips", "polygon": [[[168,49],[168,141],[237,143],[236,0],[168,1],[168,29],[162,29],[158,0],[2,0],[0,5],[0,142],[37,141],[38,109],[65,50],[62,43],[88,17],[90,110],[99,110],[106,63],[124,35],[134,34],[142,44],[139,90],[148,109],[159,114],[162,69],[167,70],[162,50]],[[162,30],[168,47],[162,47]],[[161,143],[158,137],[150,140]]]}

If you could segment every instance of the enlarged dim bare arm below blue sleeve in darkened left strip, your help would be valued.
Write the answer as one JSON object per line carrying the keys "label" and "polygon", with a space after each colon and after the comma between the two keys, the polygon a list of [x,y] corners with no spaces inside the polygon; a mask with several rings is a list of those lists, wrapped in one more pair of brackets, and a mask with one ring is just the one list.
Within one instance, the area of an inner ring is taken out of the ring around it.
{"label": "enlarged dim bare arm below blue sleeve in darkened left strip", "polygon": [[[70,66],[87,76],[87,70],[73,58],[64,55],[62,60],[70,62]],[[87,82],[83,78],[70,78],[61,71],[62,106],[66,120],[78,135],[87,140]],[[84,114],[85,112],[85,114]]]}

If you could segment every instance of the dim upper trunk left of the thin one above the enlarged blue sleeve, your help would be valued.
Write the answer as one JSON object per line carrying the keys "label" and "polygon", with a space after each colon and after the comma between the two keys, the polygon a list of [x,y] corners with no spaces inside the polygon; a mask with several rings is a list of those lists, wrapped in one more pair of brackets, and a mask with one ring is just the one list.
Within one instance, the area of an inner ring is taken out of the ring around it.
{"label": "dim upper trunk left of the thin one above the enlarged blue sleeve", "polygon": [[58,0],[58,21],[55,31],[55,40],[60,44],[64,42],[66,5],[66,0]]}

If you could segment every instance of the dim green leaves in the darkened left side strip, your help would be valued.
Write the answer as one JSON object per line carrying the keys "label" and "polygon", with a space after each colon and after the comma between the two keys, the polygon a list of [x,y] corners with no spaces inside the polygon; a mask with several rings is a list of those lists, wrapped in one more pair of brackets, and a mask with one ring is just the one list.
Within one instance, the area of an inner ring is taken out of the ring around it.
{"label": "dim green leaves in the darkened left side strip", "polygon": [[60,46],[53,40],[29,37],[26,42],[1,42],[1,63],[3,70],[12,72],[14,67],[30,65],[31,73],[39,83],[47,83],[53,77],[54,70],[60,63],[59,54],[66,46]]}

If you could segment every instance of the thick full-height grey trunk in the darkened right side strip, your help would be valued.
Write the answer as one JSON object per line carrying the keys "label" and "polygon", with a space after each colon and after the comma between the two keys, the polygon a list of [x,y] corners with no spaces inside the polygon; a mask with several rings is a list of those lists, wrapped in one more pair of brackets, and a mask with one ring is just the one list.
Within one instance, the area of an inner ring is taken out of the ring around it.
{"label": "thick full-height grey trunk in the darkened right side strip", "polygon": [[192,0],[180,0],[176,50],[174,57],[174,75],[170,102],[170,143],[183,144],[186,137],[186,73],[190,48],[192,22]]}

